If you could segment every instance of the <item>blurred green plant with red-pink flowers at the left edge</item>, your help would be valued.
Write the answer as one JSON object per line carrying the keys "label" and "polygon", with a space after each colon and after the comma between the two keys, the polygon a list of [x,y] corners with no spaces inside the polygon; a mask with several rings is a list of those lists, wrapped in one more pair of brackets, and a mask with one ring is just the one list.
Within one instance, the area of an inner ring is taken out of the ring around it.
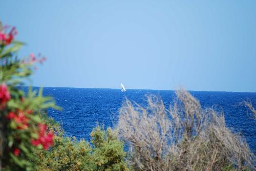
{"label": "blurred green plant with red-pink flowers at the left edge", "polygon": [[17,52],[24,43],[15,41],[16,35],[14,27],[0,23],[0,170],[35,170],[33,151],[53,144],[53,133],[41,123],[40,113],[58,107],[41,88],[25,93],[17,87],[32,75],[35,62],[46,58],[31,54],[19,60]]}

